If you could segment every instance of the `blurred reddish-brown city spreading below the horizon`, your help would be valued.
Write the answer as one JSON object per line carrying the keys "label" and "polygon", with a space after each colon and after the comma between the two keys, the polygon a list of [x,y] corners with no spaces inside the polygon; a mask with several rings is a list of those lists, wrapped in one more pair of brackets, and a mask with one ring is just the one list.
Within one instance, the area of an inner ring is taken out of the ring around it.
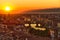
{"label": "blurred reddish-brown city spreading below the horizon", "polygon": [[0,40],[54,40],[60,38],[60,12],[0,15]]}

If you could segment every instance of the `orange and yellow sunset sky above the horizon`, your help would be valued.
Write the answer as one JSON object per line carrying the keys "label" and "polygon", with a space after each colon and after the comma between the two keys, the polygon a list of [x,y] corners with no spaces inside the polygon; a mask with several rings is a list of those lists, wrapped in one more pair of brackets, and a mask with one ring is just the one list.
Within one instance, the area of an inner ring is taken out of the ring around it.
{"label": "orange and yellow sunset sky above the horizon", "polygon": [[32,10],[44,8],[60,8],[60,0],[1,0],[0,10],[10,6],[12,10]]}

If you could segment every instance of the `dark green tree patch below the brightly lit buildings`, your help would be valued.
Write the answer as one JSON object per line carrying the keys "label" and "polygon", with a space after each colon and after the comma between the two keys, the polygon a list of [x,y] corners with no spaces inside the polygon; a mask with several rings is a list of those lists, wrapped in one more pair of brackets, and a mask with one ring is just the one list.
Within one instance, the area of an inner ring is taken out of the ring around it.
{"label": "dark green tree patch below the brightly lit buildings", "polygon": [[42,36],[42,37],[49,36],[48,29],[46,29],[45,31],[42,31],[42,30],[35,30],[33,28],[30,28],[29,32],[33,35]]}

